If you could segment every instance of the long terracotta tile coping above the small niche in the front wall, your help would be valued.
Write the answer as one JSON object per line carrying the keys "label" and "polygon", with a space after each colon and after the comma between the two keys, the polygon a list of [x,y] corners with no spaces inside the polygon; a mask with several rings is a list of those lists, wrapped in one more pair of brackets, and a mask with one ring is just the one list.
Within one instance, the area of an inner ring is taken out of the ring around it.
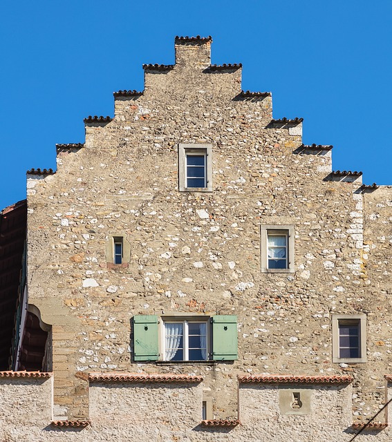
{"label": "long terracotta tile coping above the small niche in the front wall", "polygon": [[290,375],[254,375],[239,376],[240,383],[350,383],[351,376],[290,376]]}

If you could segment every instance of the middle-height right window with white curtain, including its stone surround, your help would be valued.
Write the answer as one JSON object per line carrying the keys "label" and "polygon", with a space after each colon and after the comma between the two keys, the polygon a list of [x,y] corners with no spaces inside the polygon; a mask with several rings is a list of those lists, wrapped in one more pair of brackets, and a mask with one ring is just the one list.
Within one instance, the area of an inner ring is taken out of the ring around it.
{"label": "middle-height right window with white curtain, including its stone surround", "polygon": [[261,271],[294,272],[293,226],[261,226]]}

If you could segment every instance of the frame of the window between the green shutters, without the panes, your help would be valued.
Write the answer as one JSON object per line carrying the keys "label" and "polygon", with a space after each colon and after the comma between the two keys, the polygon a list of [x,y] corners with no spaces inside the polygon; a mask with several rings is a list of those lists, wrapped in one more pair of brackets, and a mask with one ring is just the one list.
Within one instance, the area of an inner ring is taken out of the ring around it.
{"label": "frame of the window between the green shutters, without the panes", "polygon": [[[183,362],[205,362],[211,361],[211,318],[209,316],[195,317],[195,316],[168,316],[161,317],[162,327],[160,327],[160,348],[162,349],[160,361],[171,362],[171,363],[183,363]],[[166,332],[165,324],[183,323],[183,359],[174,361],[173,359],[166,359]],[[206,358],[205,359],[189,359],[189,330],[187,325],[189,323],[203,323],[206,329]]]}

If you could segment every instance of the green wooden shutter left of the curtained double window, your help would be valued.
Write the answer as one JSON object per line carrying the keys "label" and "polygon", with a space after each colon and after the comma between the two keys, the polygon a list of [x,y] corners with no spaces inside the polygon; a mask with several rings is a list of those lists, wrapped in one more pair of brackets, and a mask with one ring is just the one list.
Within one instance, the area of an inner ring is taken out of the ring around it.
{"label": "green wooden shutter left of the curtained double window", "polygon": [[133,316],[133,358],[158,361],[158,316]]}

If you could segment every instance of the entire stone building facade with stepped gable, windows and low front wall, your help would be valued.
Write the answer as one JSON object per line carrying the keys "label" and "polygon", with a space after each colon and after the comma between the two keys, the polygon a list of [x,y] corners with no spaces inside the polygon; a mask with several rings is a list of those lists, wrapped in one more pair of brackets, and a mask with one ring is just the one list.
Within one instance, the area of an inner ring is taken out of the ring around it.
{"label": "entire stone building facade with stepped gable, windows and low front wall", "polygon": [[47,373],[0,374],[4,440],[391,440],[392,188],[333,171],[211,43],[176,37],[28,171]]}

